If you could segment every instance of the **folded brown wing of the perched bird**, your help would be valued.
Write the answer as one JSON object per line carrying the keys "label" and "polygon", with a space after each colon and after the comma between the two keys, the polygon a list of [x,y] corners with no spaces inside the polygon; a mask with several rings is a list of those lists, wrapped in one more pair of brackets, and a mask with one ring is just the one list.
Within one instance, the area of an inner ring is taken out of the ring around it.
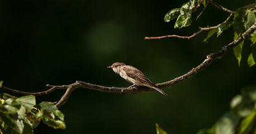
{"label": "folded brown wing of the perched bird", "polygon": [[143,73],[141,73],[139,69],[136,69],[133,66],[130,66],[129,68],[126,68],[126,66],[124,66],[123,69],[126,72],[126,75],[130,78],[138,80],[141,83],[150,84],[153,87],[155,87],[155,85],[152,82],[150,82],[150,80]]}

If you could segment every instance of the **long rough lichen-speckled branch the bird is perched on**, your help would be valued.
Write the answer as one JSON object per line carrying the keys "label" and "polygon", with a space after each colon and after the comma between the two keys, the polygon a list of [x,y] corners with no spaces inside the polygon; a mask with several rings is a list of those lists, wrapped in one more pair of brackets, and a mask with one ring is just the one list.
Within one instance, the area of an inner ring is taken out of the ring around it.
{"label": "long rough lichen-speckled branch the bird is perched on", "polygon": [[[214,54],[209,54],[207,55],[207,58],[196,68],[193,68],[190,70],[188,73],[179,76],[178,78],[175,78],[173,80],[170,80],[168,82],[164,83],[159,83],[156,84],[158,88],[170,88],[172,85],[178,84],[180,82],[183,82],[184,80],[187,80],[191,76],[197,74],[201,70],[205,69],[206,66],[210,65],[212,61],[216,60],[217,58],[221,58],[226,52],[229,50],[233,49],[235,46],[240,44],[240,42],[244,41],[246,37],[248,37],[250,34],[252,34],[256,29],[256,22],[247,30],[245,31],[239,38],[233,42],[231,42],[229,45],[226,45],[222,47],[220,51],[215,52]],[[111,93],[121,93],[121,94],[126,94],[126,93],[131,93],[131,94],[138,94],[138,93],[145,93],[149,91],[153,91],[154,89],[150,89],[148,87],[132,87],[132,88],[116,88],[116,87],[103,87],[101,85],[96,85],[96,84],[90,84],[90,83],[85,83],[85,82],[80,82],[77,81],[73,84],[70,85],[46,85],[46,87],[51,87],[51,89],[45,91],[45,92],[39,92],[39,93],[27,93],[27,92],[20,92],[18,90],[13,90],[10,88],[3,87],[3,89],[10,90],[15,93],[20,93],[20,94],[26,94],[26,95],[42,95],[42,94],[48,94],[50,92],[53,92],[55,89],[67,89],[66,93],[61,97],[59,102],[56,104],[56,107],[60,108],[68,99],[69,95],[72,93],[74,89],[77,88],[88,88],[88,89],[93,89],[93,90],[99,90],[101,92],[111,92]]]}

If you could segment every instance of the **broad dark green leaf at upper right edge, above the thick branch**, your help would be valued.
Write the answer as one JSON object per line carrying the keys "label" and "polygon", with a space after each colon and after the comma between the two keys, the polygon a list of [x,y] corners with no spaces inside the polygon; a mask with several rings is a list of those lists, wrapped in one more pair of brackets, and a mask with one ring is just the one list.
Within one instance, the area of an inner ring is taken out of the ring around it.
{"label": "broad dark green leaf at upper right edge, above the thick branch", "polygon": [[236,33],[238,33],[238,35],[240,35],[240,33],[248,30],[248,28],[250,28],[250,26],[252,26],[255,21],[256,18],[254,13],[245,7],[238,8],[236,9],[234,15],[234,30]]}

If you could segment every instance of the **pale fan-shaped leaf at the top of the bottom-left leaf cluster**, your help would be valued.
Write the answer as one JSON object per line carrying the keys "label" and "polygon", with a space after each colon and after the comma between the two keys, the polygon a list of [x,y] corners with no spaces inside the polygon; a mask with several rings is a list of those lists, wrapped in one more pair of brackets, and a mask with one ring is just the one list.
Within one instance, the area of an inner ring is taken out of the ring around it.
{"label": "pale fan-shaped leaf at the top of the bottom-left leaf cluster", "polygon": [[29,112],[36,104],[35,96],[26,95],[16,99],[17,102],[21,103],[26,108],[26,113]]}

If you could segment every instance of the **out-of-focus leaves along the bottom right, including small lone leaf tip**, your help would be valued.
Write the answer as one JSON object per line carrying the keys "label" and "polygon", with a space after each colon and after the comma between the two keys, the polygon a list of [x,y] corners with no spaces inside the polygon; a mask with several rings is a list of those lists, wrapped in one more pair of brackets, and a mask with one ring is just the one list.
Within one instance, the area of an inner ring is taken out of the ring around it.
{"label": "out-of-focus leaves along the bottom right, including small lone leaf tip", "polygon": [[[230,111],[226,112],[210,129],[205,128],[197,134],[247,134],[256,132],[256,86],[248,86],[241,90],[230,103]],[[167,134],[157,126],[157,133]]]}

